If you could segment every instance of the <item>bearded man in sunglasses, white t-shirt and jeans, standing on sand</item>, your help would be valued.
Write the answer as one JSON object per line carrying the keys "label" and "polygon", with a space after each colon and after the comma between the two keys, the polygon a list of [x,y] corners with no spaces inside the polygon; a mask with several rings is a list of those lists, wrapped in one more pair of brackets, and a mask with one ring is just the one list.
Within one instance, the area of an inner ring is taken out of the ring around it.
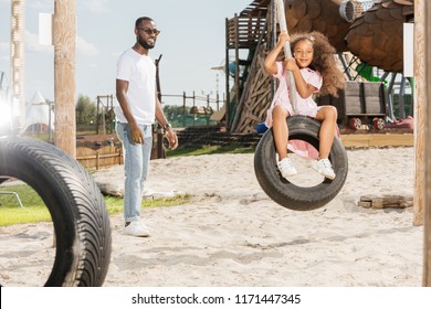
{"label": "bearded man in sunglasses, white t-shirt and jeans, standing on sand", "polygon": [[148,227],[140,223],[144,183],[148,174],[155,118],[164,127],[171,149],[178,139],[165,117],[156,89],[156,65],[149,57],[159,30],[147,17],[135,22],[136,43],[118,58],[115,108],[116,130],[124,148],[124,234],[149,236]]}

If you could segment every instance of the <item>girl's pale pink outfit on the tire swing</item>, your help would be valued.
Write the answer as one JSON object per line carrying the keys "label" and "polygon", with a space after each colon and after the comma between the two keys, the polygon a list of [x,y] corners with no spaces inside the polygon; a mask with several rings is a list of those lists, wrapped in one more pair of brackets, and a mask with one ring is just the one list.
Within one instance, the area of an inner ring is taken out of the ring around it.
{"label": "girl's pale pink outfit on the tire swing", "polygon": [[[266,114],[265,125],[269,128],[272,127],[272,110],[274,106],[283,105],[287,109],[290,115],[294,115],[291,99],[288,96],[287,70],[284,70],[283,62],[276,62],[275,64],[277,67],[277,72],[273,76],[280,81],[280,85],[275,92],[273,102]],[[323,83],[320,73],[318,73],[317,71],[313,71],[308,67],[305,67],[305,68],[301,68],[301,74],[303,75],[304,81],[307,84],[316,88],[315,93],[317,93],[320,89]],[[299,115],[305,115],[313,118],[316,117],[317,110],[319,109],[319,107],[313,99],[313,95],[303,98],[297,92],[296,92],[296,107]]]}

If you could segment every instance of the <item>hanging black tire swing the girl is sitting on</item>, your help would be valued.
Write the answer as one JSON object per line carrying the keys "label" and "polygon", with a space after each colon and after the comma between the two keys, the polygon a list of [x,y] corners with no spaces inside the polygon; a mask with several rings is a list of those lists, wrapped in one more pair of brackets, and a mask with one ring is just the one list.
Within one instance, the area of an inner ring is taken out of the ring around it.
{"label": "hanging black tire swing the girl is sitting on", "polygon": [[[320,122],[306,117],[287,118],[288,139],[304,140],[317,150]],[[341,140],[335,137],[329,160],[336,178],[323,179],[314,187],[298,187],[284,179],[276,166],[276,152],[272,129],[269,129],[257,143],[254,154],[254,171],[263,191],[276,203],[295,211],[311,211],[324,206],[341,190],[348,171],[347,153]]]}

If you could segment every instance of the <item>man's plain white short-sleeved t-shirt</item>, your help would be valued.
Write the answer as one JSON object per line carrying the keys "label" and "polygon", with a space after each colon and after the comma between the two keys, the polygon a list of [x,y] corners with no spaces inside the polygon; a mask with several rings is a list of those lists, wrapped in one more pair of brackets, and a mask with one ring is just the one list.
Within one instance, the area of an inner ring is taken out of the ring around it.
{"label": "man's plain white short-sleeved t-shirt", "polygon": [[[156,118],[156,65],[148,55],[126,50],[117,61],[117,79],[127,81],[132,115],[139,125],[153,125]],[[122,107],[115,107],[116,119],[127,124]]]}

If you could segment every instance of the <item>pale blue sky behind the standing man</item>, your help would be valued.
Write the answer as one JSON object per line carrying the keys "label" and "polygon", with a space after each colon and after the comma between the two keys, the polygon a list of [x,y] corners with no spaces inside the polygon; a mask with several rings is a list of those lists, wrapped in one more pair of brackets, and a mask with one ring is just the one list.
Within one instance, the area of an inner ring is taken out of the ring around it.
{"label": "pale blue sky behind the standing man", "polygon": [[[115,95],[115,68],[119,54],[132,47],[137,18],[147,15],[161,31],[150,56],[160,60],[164,95],[222,95],[225,19],[233,18],[252,0],[77,0],[76,97]],[[25,99],[36,90],[54,100],[54,50],[39,44],[39,13],[53,13],[54,0],[25,1]],[[9,84],[10,0],[0,0],[0,71]],[[164,97],[164,103],[182,104]],[[179,102],[180,100],[180,102]]]}

